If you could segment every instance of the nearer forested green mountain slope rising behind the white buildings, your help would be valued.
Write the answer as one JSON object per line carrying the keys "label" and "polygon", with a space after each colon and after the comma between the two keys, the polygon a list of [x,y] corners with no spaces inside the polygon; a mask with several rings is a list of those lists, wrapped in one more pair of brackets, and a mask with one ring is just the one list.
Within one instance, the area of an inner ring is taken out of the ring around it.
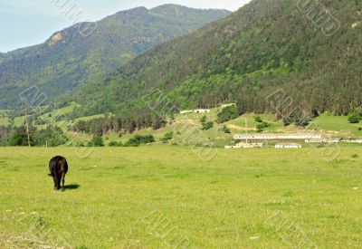
{"label": "nearer forested green mountain slope rising behind the white buildings", "polygon": [[181,109],[237,101],[243,111],[280,116],[296,109],[346,114],[362,106],[361,8],[349,0],[253,0],[72,98],[87,114],[139,110],[153,91]]}

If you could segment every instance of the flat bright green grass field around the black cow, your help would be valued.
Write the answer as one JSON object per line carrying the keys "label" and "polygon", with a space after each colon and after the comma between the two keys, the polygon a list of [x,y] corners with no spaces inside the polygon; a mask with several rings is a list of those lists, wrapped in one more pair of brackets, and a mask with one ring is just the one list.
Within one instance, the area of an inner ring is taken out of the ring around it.
{"label": "flat bright green grass field around the black cow", "polygon": [[[362,247],[362,147],[330,161],[313,148],[210,161],[197,149],[0,148],[0,248]],[[58,154],[70,164],[60,192],[47,176]]]}

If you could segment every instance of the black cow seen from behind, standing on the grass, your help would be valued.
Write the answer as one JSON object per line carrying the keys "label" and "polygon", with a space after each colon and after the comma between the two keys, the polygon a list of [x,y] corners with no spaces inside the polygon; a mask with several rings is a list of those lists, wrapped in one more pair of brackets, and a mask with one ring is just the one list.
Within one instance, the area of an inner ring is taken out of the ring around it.
{"label": "black cow seen from behind, standing on the grass", "polygon": [[68,172],[67,159],[60,156],[52,158],[49,162],[49,170],[51,171],[49,176],[52,177],[54,181],[54,189],[59,190],[61,188],[61,180],[62,187],[64,188],[64,178]]}

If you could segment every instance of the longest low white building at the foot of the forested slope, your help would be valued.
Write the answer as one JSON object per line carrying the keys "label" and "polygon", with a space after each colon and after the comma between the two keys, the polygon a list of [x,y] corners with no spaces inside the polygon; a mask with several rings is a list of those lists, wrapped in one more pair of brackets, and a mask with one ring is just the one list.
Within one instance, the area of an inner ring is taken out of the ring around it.
{"label": "longest low white building at the foot of the forested slope", "polygon": [[322,139],[322,135],[314,133],[304,134],[292,134],[292,133],[281,133],[281,134],[235,134],[233,139],[241,140],[288,140],[288,139]]}

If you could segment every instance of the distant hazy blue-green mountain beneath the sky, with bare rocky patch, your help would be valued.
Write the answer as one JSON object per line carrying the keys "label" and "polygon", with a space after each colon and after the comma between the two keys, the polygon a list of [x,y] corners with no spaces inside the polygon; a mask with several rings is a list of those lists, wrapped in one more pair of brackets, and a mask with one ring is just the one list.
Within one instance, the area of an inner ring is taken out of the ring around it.
{"label": "distant hazy blue-green mountain beneath the sky, with bare rocky patch", "polygon": [[[159,43],[228,14],[226,10],[179,5],[150,10],[138,7],[96,23],[72,25],[45,43],[0,53],[0,108],[14,107],[19,92],[33,84],[52,99],[74,91],[81,82],[111,72]],[[85,30],[87,27],[90,28]]]}

